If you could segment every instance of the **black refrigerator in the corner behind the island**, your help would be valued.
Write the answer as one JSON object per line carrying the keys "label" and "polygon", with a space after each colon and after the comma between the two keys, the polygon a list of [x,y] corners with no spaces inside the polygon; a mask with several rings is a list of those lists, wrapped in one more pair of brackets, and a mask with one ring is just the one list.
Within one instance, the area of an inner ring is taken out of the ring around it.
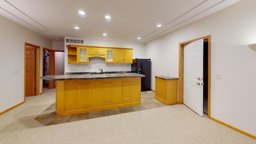
{"label": "black refrigerator in the corner behind the island", "polygon": [[133,59],[131,72],[144,74],[146,77],[141,78],[141,91],[148,91],[151,88],[151,61],[148,59]]}

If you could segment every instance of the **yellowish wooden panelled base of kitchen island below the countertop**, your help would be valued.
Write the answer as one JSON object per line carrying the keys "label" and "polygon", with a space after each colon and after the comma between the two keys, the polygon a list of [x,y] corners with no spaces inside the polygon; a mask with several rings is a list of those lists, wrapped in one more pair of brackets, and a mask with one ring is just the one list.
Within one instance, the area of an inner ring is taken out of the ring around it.
{"label": "yellowish wooden panelled base of kitchen island below the countertop", "polygon": [[62,95],[56,96],[56,101],[61,101],[56,102],[56,113],[66,116],[140,105],[140,80],[140,77],[66,80],[61,84],[64,94],[58,92]]}

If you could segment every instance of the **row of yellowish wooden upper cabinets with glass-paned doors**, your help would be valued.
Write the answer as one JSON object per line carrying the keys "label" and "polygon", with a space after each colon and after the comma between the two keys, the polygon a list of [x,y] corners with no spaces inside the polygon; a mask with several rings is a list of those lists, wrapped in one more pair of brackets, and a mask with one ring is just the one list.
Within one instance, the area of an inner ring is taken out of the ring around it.
{"label": "row of yellowish wooden upper cabinets with glass-paned doors", "polygon": [[132,64],[132,48],[67,45],[69,64],[87,64],[89,58],[105,58],[106,64]]}

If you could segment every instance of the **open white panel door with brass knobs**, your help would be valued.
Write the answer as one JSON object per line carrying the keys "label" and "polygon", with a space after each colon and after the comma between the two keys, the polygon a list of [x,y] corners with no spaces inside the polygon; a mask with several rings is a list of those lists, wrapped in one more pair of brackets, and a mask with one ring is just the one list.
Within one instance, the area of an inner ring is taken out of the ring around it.
{"label": "open white panel door with brass knobs", "polygon": [[184,104],[203,116],[204,40],[184,45]]}

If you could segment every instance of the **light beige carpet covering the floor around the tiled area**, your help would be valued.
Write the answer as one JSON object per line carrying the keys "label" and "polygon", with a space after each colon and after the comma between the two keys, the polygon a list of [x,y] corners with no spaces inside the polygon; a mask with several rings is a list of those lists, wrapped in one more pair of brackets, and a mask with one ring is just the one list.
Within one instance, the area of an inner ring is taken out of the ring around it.
{"label": "light beige carpet covering the floor around the tiled area", "polygon": [[1,144],[256,144],[256,140],[172,105],[64,124],[34,120],[55,102],[55,89],[27,97],[0,115]]}

